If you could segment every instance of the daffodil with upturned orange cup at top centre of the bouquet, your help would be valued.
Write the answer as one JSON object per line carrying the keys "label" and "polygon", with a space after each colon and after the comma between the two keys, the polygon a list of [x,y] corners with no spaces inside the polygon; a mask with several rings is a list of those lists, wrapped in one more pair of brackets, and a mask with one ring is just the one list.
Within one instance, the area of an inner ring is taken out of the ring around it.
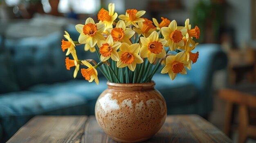
{"label": "daffodil with upturned orange cup at top centre of the bouquet", "polygon": [[126,10],[126,14],[119,15],[121,20],[124,20],[126,26],[134,25],[138,27],[137,22],[144,22],[143,18],[140,18],[146,13],[146,11],[137,11],[136,9],[128,9]]}

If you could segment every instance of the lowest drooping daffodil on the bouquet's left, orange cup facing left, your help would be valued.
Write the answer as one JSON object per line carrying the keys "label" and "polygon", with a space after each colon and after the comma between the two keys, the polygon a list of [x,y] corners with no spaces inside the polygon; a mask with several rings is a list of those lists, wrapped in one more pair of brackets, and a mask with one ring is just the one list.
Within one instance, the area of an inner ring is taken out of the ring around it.
{"label": "lowest drooping daffodil on the bouquet's left, orange cup facing left", "polygon": [[99,84],[99,79],[98,79],[98,72],[94,66],[92,66],[89,62],[87,61],[81,61],[85,66],[88,68],[81,68],[81,73],[85,80],[88,80],[89,82],[95,81],[96,84]]}

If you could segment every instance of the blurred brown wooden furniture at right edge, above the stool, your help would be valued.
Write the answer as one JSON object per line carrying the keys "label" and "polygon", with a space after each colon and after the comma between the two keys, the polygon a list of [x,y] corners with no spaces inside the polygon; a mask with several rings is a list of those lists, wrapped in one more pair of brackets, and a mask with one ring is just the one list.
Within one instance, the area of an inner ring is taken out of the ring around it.
{"label": "blurred brown wooden furniture at right edge, above the stool", "polygon": [[252,48],[228,51],[229,83],[255,82],[255,55]]}

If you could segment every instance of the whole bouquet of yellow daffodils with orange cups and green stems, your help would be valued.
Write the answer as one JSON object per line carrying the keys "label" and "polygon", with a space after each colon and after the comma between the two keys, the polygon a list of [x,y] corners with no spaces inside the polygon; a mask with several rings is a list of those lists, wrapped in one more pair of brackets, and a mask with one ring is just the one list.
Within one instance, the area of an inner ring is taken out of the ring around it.
{"label": "whole bouquet of yellow daffodils with orange cups and green stems", "polygon": [[[89,82],[99,84],[98,71],[115,83],[146,83],[150,82],[157,71],[168,73],[175,79],[178,73],[186,74],[191,64],[198,59],[198,52],[192,50],[198,43],[193,41],[200,36],[200,29],[191,29],[189,19],[185,26],[177,26],[175,20],[161,17],[159,23],[141,18],[146,11],[136,9],[126,10],[125,15],[115,13],[115,4],[108,4],[108,11],[101,9],[98,13],[98,23],[92,18],[85,25],[77,24],[80,33],[78,41],[73,41],[65,31],[61,48],[67,50],[73,59],[65,59],[66,68],[74,69],[76,77],[80,65],[83,77]],[[118,19],[117,19],[118,17]],[[93,59],[78,59],[76,45],[84,44],[84,50],[96,52],[99,62]],[[168,53],[169,52],[169,53]]]}

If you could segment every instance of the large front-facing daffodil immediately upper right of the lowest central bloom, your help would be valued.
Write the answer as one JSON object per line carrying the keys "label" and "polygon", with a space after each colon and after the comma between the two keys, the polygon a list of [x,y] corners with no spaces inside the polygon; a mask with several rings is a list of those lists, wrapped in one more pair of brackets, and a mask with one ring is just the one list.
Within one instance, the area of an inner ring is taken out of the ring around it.
{"label": "large front-facing daffodil immediately upper right of the lowest central bloom", "polygon": [[163,58],[166,56],[164,45],[166,40],[158,38],[157,31],[151,33],[147,38],[140,37],[141,49],[139,55],[144,58],[148,58],[150,64],[155,61],[155,58]]}

